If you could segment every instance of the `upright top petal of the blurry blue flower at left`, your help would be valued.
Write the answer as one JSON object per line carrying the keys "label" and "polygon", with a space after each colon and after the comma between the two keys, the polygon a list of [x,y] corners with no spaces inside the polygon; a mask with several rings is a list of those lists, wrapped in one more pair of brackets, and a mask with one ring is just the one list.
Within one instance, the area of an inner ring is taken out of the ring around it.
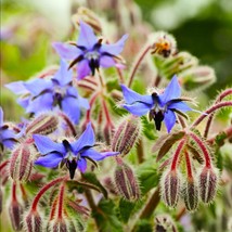
{"label": "upright top petal of the blurry blue flower at left", "polygon": [[68,70],[68,64],[61,60],[60,69],[55,73],[53,79],[57,80],[60,86],[64,87],[68,85],[73,79],[73,70]]}

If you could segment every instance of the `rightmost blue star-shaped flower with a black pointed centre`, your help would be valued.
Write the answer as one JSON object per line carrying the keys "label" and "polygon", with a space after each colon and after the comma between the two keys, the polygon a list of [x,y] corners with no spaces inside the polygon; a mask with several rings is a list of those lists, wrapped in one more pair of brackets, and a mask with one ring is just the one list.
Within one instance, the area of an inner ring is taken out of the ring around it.
{"label": "rightmost blue star-shaped flower with a black pointed centre", "polygon": [[175,126],[176,113],[193,111],[181,99],[181,89],[176,76],[171,79],[163,93],[153,92],[151,95],[141,95],[126,86],[121,85],[126,108],[133,115],[142,116],[149,113],[150,119],[154,119],[156,130],[160,130],[162,121],[165,121],[167,131],[170,132]]}

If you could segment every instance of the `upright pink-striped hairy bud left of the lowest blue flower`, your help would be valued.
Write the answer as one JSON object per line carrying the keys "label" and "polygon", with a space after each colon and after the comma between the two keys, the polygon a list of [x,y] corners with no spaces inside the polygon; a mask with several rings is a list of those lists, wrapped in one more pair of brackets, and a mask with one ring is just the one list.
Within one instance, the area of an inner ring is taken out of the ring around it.
{"label": "upright pink-striped hairy bud left of the lowest blue flower", "polygon": [[10,160],[10,176],[14,181],[27,181],[33,169],[33,154],[28,144],[20,144]]}

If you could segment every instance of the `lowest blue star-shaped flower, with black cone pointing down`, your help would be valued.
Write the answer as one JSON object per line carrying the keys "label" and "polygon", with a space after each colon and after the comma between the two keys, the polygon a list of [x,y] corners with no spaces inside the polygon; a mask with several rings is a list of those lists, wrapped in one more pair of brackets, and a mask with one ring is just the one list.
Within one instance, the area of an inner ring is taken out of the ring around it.
{"label": "lowest blue star-shaped flower, with black cone pointing down", "polygon": [[88,124],[87,129],[79,139],[74,142],[64,139],[61,143],[56,143],[48,137],[39,134],[34,134],[33,138],[38,151],[43,155],[40,156],[35,164],[48,168],[55,168],[60,163],[65,163],[69,170],[70,179],[74,178],[76,168],[81,172],[86,171],[87,159],[94,163],[94,160],[102,160],[108,156],[119,154],[118,152],[100,153],[93,150],[95,140],[91,123]]}

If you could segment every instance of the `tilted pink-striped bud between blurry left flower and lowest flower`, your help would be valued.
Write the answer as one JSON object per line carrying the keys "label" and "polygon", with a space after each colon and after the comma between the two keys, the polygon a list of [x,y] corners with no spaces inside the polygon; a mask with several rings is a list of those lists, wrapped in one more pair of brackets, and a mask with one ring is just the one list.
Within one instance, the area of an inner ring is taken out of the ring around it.
{"label": "tilted pink-striped bud between blurry left flower and lowest flower", "polygon": [[41,114],[36,117],[26,128],[27,134],[49,134],[59,127],[59,118],[53,114]]}

